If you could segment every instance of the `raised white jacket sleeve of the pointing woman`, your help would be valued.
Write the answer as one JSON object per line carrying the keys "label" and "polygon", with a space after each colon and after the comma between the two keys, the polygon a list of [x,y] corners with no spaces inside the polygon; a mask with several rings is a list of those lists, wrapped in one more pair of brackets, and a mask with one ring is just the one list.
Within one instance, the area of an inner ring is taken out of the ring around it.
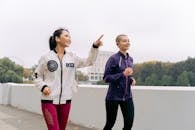
{"label": "raised white jacket sleeve of the pointing woman", "polygon": [[91,47],[88,58],[80,58],[75,56],[75,63],[77,68],[87,67],[93,65],[97,59],[99,49],[97,47]]}

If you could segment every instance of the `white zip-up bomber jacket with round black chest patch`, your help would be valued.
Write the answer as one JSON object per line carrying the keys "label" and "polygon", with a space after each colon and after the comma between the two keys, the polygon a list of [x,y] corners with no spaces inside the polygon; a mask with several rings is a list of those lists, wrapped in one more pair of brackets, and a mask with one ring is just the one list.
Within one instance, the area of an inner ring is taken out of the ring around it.
{"label": "white zip-up bomber jacket with round black chest patch", "polygon": [[72,87],[75,87],[76,68],[92,65],[98,54],[98,48],[92,47],[88,58],[82,59],[72,52],[65,52],[60,61],[55,50],[51,50],[39,60],[35,70],[35,86],[42,91],[48,86],[49,95],[42,94],[42,100],[52,101],[53,104],[64,104],[72,98]]}

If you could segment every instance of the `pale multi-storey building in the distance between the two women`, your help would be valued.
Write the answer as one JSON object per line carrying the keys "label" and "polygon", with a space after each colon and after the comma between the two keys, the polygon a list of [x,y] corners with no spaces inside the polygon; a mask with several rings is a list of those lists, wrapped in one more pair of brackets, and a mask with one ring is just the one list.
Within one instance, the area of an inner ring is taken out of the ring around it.
{"label": "pale multi-storey building in the distance between the two women", "polygon": [[114,54],[109,51],[100,51],[93,66],[88,68],[89,81],[100,81],[103,79],[104,69],[108,58]]}

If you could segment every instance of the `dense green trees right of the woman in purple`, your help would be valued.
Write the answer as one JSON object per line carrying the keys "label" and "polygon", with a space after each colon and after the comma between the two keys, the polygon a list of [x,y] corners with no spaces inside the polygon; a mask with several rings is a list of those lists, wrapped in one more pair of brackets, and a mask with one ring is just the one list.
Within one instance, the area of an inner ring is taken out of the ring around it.
{"label": "dense green trees right of the woman in purple", "polygon": [[134,78],[137,85],[146,86],[195,86],[195,58],[170,63],[151,61],[135,64]]}

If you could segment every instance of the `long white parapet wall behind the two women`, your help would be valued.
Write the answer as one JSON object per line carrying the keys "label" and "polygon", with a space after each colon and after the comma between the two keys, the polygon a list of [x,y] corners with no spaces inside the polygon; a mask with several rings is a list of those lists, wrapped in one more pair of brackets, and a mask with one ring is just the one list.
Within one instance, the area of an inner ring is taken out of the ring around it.
{"label": "long white parapet wall behind the two women", "polygon": [[[107,86],[80,85],[74,94],[70,119],[88,127],[102,129],[105,123]],[[135,122],[133,130],[194,130],[195,88],[133,88]],[[0,104],[41,114],[40,92],[29,84],[0,84]],[[123,119],[119,109],[113,130],[121,130]]]}

